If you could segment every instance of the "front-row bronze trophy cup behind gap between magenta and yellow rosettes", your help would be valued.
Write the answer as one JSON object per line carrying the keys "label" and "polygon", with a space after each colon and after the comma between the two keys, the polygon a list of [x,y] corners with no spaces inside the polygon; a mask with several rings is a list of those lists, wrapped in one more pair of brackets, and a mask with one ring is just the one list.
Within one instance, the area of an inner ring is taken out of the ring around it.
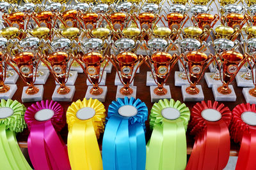
{"label": "front-row bronze trophy cup behind gap between magenta and yellow rosettes", "polygon": [[57,85],[52,94],[53,101],[72,101],[75,93],[73,85],[66,85],[69,77],[70,66],[74,62],[74,55],[65,52],[52,52],[43,55],[42,62],[48,67],[54,76]]}

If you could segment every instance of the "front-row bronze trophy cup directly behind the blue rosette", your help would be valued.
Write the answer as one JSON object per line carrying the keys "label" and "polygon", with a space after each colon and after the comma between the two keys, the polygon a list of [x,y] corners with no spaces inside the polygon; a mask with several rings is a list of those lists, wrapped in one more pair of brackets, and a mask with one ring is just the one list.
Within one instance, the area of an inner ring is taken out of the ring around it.
{"label": "front-row bronze trophy cup directly behind the blue rosette", "polygon": [[[124,98],[125,96],[135,98],[137,87],[129,87],[129,85],[134,80],[134,76],[136,74],[137,69],[141,66],[141,64],[144,61],[143,56],[140,55],[138,57],[135,53],[122,52],[116,56],[111,55],[110,61],[112,62],[113,66],[116,67],[116,74],[118,75],[118,78],[124,85],[124,87],[118,85],[116,90],[116,99]],[[136,66],[137,62],[139,62],[139,64],[134,70],[134,66]]]}

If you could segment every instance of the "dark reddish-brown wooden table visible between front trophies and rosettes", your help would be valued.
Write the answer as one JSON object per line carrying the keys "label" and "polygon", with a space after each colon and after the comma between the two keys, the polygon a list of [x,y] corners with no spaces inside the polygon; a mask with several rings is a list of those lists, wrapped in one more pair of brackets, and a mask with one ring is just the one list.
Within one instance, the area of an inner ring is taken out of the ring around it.
{"label": "dark reddish-brown wooden table visible between front trophies and rosettes", "polygon": [[[179,101],[183,102],[181,88],[175,87],[175,85],[174,85],[174,72],[178,71],[178,70],[179,70],[179,67],[178,67],[178,64],[176,64],[176,66],[172,70],[172,73],[170,74],[170,77],[168,78],[166,85],[170,85],[172,98],[175,101],[179,100]],[[150,87],[146,86],[147,71],[149,71],[149,69],[146,66],[146,64],[145,63],[142,64],[140,67],[140,73],[136,74],[136,77],[134,79],[134,85],[137,86],[136,97],[141,99],[141,101],[143,101],[147,105],[148,113],[150,113],[153,103],[150,102]],[[209,72],[209,70],[207,72]],[[115,67],[113,67],[111,73],[107,74],[106,85],[108,86],[108,94],[106,97],[106,102],[104,103],[106,110],[108,110],[108,106],[111,103],[111,101],[115,101],[115,97],[116,97],[116,86],[114,85],[115,73],[116,73],[116,70],[115,70]],[[205,101],[207,101],[207,100],[214,101],[212,89],[207,87],[207,83],[205,82],[204,78],[202,78],[202,80],[198,84],[202,85]],[[233,87],[236,91],[237,100],[236,100],[236,102],[223,102],[223,104],[225,104],[225,106],[228,106],[230,108],[230,110],[232,110],[237,104],[245,103],[245,100],[244,100],[244,97],[242,94],[243,88],[237,87],[236,80],[234,80],[231,84],[233,85]],[[25,83],[19,78],[17,80],[18,89],[12,98],[13,100],[16,99],[17,101],[21,102],[22,88],[24,87],[24,85],[25,85]],[[74,94],[74,98],[72,101],[77,101],[78,99],[83,100],[86,90],[87,90],[86,76],[84,75],[84,73],[78,73],[75,86],[76,86],[76,92]],[[51,100],[51,96],[54,91],[54,88],[55,88],[54,78],[50,74],[47,82],[44,85],[44,100],[46,100],[46,99]],[[64,111],[67,111],[68,106],[70,106],[70,104],[71,104],[71,102],[59,102],[59,103],[63,106]],[[30,106],[31,104],[32,103],[24,103],[24,105],[26,107]],[[189,109],[191,109],[195,104],[196,104],[196,102],[186,102],[186,106],[188,106]],[[150,138],[150,135],[151,135],[151,131],[149,130],[148,121],[146,122],[146,125],[147,125],[146,139],[148,141],[148,139]],[[188,132],[189,131],[190,130],[188,129]],[[187,143],[188,143],[188,154],[190,154],[193,149],[194,140],[193,140],[193,136],[189,136],[188,132],[187,132],[187,138],[188,138]],[[23,132],[17,134],[17,141],[19,142],[19,146],[21,148],[27,147],[28,134],[29,134],[28,129],[24,129]],[[61,137],[63,138],[63,140],[65,142],[67,142],[67,134],[68,134],[67,125],[65,126],[65,128],[62,129],[60,134],[61,134]],[[99,139],[100,148],[101,148],[101,143],[102,143],[102,136]],[[231,139],[230,156],[237,156],[238,151],[239,151],[239,144],[234,143],[234,141],[232,141],[232,139]]]}

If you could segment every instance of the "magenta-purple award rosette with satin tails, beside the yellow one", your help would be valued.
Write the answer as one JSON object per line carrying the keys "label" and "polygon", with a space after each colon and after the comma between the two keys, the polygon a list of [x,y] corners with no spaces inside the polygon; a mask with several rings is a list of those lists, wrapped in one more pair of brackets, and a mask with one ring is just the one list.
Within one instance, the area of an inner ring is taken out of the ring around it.
{"label": "magenta-purple award rosette with satin tails, beside the yellow one", "polygon": [[25,121],[29,158],[35,169],[71,169],[67,146],[58,132],[65,126],[63,107],[54,101],[40,101],[29,106]]}

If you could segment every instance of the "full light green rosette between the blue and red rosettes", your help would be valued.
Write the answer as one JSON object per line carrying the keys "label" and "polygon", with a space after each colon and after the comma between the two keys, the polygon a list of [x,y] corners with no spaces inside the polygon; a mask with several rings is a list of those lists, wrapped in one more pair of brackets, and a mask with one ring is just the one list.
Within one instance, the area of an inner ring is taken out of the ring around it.
{"label": "full light green rosette between the blue and red rosettes", "polygon": [[186,168],[189,117],[189,108],[180,101],[154,103],[149,117],[152,135],[147,143],[147,170]]}

